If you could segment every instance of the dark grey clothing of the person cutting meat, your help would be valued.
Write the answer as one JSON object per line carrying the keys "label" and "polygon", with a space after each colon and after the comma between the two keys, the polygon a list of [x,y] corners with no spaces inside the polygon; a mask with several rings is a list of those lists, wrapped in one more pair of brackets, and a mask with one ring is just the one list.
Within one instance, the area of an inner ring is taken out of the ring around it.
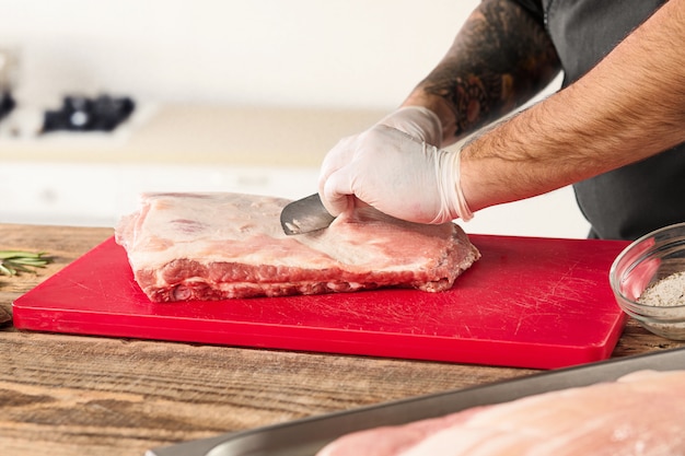
{"label": "dark grey clothing of the person cutting meat", "polygon": [[[602,60],[665,0],[518,2],[544,23],[561,61],[566,86]],[[592,225],[590,237],[635,239],[661,226],[683,222],[685,145],[583,180],[573,189]]]}

